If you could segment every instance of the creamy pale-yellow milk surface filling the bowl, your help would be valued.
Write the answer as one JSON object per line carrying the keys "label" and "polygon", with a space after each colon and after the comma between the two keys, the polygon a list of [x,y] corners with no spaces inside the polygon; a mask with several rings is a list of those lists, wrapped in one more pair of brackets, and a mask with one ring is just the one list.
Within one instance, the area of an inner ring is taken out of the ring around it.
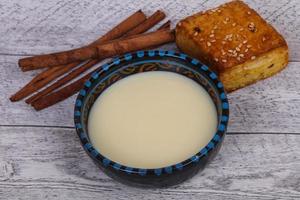
{"label": "creamy pale-yellow milk surface filling the bowl", "polygon": [[88,132],[105,157],[129,167],[161,168],[201,150],[217,130],[203,87],[172,72],[145,72],[107,88],[93,105]]}

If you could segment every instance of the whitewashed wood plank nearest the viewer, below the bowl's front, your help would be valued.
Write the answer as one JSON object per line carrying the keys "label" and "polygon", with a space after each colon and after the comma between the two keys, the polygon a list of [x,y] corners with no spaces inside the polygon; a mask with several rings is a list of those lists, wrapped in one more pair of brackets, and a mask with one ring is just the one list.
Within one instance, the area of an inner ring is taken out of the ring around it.
{"label": "whitewashed wood plank nearest the viewer, below the bowl's front", "polygon": [[108,178],[73,129],[0,127],[0,199],[299,199],[300,136],[228,135],[216,159],[178,186]]}

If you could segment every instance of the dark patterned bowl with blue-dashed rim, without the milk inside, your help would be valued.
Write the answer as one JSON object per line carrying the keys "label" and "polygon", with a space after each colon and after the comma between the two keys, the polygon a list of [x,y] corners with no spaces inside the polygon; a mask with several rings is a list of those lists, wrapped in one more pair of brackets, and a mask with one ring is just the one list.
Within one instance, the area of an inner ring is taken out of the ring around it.
{"label": "dark patterned bowl with blue-dashed rim, without the milk inside", "polygon": [[[206,89],[218,113],[218,129],[211,141],[199,152],[181,163],[158,169],[123,166],[101,155],[90,142],[87,124],[91,107],[110,85],[127,76],[147,71],[168,71],[186,76]],[[229,106],[222,83],[207,66],[185,54],[173,51],[138,51],[125,54],[103,65],[80,91],[74,121],[81,144],[95,163],[110,177],[135,186],[165,187],[175,185],[195,175],[216,155],[225,136]]]}

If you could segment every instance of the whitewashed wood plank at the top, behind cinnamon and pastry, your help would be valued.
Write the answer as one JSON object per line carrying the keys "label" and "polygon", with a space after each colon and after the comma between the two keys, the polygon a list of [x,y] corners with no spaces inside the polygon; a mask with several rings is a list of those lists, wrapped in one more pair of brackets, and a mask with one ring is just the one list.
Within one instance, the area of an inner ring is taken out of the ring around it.
{"label": "whitewashed wood plank at the top, behind cinnamon and pastry", "polygon": [[[227,0],[11,0],[0,1],[0,53],[41,54],[85,45],[121,19],[143,9],[163,9],[173,25],[185,16],[216,7]],[[246,0],[281,32],[300,60],[298,0]]]}

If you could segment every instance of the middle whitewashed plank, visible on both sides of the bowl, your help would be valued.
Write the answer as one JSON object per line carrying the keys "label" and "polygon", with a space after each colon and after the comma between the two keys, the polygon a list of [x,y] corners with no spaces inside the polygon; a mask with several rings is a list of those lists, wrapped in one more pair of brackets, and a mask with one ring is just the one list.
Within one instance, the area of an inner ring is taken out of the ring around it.
{"label": "middle whitewashed plank, visible on both sides of the bowl", "polygon": [[[9,96],[36,72],[21,72],[19,57],[0,57],[0,125],[73,126],[75,96],[40,112]],[[278,75],[229,94],[231,132],[300,133],[300,62]]]}

